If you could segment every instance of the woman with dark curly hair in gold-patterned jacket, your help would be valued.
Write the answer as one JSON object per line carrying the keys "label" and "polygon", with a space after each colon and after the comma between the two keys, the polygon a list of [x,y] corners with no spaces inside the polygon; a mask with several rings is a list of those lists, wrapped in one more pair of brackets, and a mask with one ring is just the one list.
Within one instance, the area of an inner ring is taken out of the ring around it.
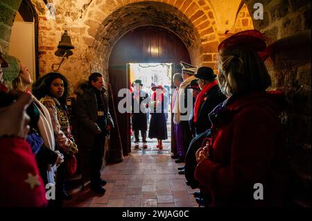
{"label": "woman with dark curly hair in gold-patterned jacket", "polygon": [[[69,83],[67,79],[58,72],[50,72],[37,80],[33,85],[33,94],[49,110],[53,125],[56,148],[64,154],[64,163],[62,163],[56,173],[56,200],[62,203],[62,199],[69,200],[64,188],[64,179],[67,175],[73,175],[76,165],[74,154],[78,152],[77,145],[71,135],[69,123],[69,114],[65,105],[69,95]],[[73,168],[73,170],[69,170]]]}

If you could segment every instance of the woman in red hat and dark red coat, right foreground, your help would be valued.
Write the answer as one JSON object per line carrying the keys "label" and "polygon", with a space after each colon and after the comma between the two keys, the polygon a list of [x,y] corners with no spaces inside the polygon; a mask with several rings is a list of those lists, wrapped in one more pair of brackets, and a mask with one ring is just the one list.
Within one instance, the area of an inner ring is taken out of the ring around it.
{"label": "woman in red hat and dark red coat, right foreground", "polygon": [[209,206],[286,205],[288,161],[278,118],[285,100],[281,91],[266,91],[271,80],[257,53],[265,48],[257,30],[219,45],[218,81],[229,98],[209,114],[211,139],[196,152],[195,176]]}

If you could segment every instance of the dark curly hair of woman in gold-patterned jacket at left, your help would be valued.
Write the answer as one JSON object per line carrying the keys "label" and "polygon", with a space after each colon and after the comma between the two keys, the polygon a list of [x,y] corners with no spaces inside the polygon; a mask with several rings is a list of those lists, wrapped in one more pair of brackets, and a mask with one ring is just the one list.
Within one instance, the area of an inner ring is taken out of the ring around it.
{"label": "dark curly hair of woman in gold-patterned jacket at left", "polygon": [[66,98],[69,96],[69,82],[67,78],[65,78],[61,73],[58,72],[49,72],[45,76],[42,76],[39,78],[34,84],[33,84],[33,95],[40,100],[41,98],[44,98],[44,96],[49,95],[51,96],[50,87],[55,79],[62,79],[64,82],[64,94],[61,98],[58,98],[60,100],[60,103],[62,105],[65,104]]}

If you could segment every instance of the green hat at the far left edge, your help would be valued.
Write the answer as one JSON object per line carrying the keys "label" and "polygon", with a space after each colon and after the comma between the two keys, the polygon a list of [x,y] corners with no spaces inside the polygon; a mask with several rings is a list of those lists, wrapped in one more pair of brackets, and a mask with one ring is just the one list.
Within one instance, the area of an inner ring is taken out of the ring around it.
{"label": "green hat at the far left edge", "polygon": [[9,67],[4,67],[3,70],[3,82],[9,87],[12,88],[12,82],[19,76],[19,71],[21,71],[21,66],[19,65],[19,60],[17,58],[10,56],[10,55],[4,55],[4,58],[6,58],[6,61],[8,64],[10,64]]}

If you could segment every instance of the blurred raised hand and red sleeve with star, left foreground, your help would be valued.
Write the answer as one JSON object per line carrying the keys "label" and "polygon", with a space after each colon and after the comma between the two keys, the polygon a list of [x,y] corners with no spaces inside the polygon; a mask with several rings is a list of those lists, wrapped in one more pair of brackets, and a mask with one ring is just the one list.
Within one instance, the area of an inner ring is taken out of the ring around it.
{"label": "blurred raised hand and red sleeve with star, left foreground", "polygon": [[[44,182],[27,143],[29,94],[0,92],[0,206],[47,206]],[[13,101],[15,100],[15,101]]]}

